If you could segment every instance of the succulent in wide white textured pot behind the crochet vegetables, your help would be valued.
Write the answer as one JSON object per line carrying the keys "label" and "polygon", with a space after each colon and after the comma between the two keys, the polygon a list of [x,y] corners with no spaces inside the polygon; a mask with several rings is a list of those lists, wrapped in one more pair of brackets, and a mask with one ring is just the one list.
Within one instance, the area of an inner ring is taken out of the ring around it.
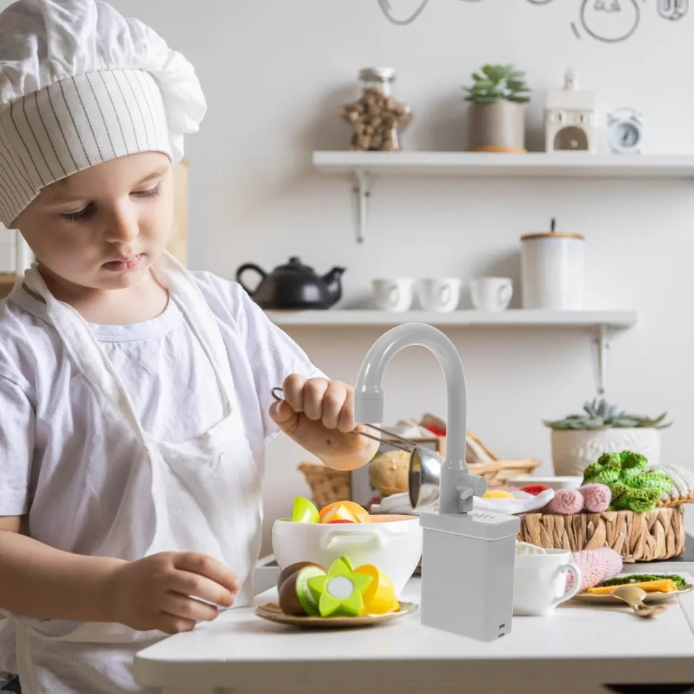
{"label": "succulent in wide white textured pot behind the crochet vegetables", "polygon": [[627,414],[606,400],[585,403],[581,414],[545,421],[552,430],[552,466],[555,475],[582,475],[603,453],[631,450],[641,453],[652,465],[660,461],[660,430],[666,414],[652,419]]}

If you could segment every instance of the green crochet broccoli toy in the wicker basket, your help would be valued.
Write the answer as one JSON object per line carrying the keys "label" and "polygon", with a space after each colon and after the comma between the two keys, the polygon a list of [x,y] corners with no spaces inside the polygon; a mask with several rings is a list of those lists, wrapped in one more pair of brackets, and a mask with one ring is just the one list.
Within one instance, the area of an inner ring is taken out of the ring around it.
{"label": "green crochet broccoli toy in the wicker basket", "polygon": [[659,470],[647,470],[648,459],[623,450],[603,453],[598,462],[583,473],[583,484],[604,484],[612,492],[611,511],[652,511],[663,494],[672,489],[672,480]]}

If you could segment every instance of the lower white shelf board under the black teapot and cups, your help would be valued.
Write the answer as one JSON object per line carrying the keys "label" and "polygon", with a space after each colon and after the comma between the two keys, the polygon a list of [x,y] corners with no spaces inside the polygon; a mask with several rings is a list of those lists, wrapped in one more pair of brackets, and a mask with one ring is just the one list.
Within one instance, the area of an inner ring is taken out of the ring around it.
{"label": "lower white shelf board under the black teapot and cups", "polygon": [[440,326],[506,325],[555,328],[630,328],[636,323],[636,312],[629,310],[575,310],[546,311],[511,309],[485,312],[462,310],[443,312],[407,311],[402,313],[378,310],[307,310],[267,311],[269,319],[276,325],[319,328],[330,326],[392,326],[402,323],[429,323]]}

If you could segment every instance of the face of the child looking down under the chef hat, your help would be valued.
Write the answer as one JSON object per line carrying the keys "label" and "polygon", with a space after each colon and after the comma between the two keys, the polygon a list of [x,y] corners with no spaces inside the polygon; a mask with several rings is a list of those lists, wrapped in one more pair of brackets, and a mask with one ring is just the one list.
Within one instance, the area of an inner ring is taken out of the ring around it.
{"label": "face of the child looking down under the chef hat", "polygon": [[149,271],[173,223],[171,162],[144,152],[46,186],[13,226],[54,280],[73,289],[124,289]]}

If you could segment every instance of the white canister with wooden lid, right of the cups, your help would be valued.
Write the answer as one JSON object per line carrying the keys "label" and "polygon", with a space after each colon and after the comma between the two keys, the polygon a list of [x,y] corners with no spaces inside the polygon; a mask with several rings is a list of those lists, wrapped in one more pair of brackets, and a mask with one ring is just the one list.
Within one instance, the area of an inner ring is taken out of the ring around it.
{"label": "white canister with wooden lid, right of the cups", "polygon": [[560,232],[521,237],[523,308],[579,309],[583,306],[585,239]]}

